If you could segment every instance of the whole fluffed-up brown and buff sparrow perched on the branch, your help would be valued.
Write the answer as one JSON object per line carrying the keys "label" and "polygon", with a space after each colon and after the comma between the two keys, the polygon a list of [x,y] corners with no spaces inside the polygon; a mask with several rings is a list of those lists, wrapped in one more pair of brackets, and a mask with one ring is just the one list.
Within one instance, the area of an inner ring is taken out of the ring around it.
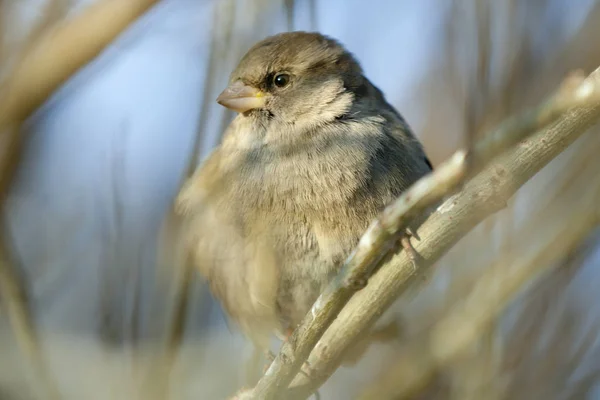
{"label": "whole fluffed-up brown and buff sparrow perched on the branch", "polygon": [[319,33],[257,43],[217,101],[239,114],[176,199],[180,237],[229,316],[267,349],[431,164],[352,54]]}

